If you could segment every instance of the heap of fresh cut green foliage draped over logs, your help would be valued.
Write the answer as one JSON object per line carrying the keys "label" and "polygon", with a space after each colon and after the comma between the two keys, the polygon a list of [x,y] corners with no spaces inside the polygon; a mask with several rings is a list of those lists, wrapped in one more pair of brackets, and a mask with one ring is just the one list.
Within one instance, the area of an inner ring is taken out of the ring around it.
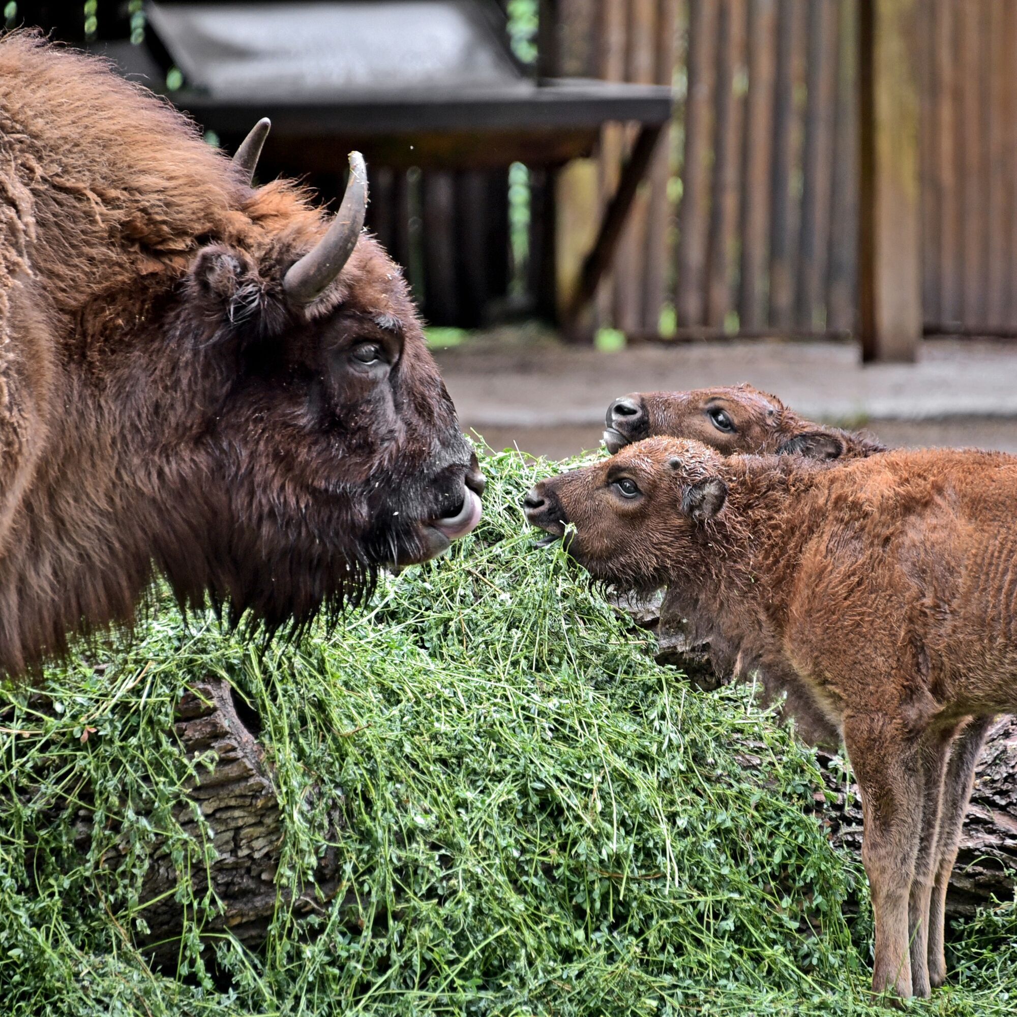
{"label": "heap of fresh cut green foliage draped over logs", "polygon": [[[746,690],[697,693],[656,665],[537,546],[519,504],[548,464],[483,465],[476,533],[338,630],[259,653],[160,602],[132,641],[50,669],[42,701],[0,693],[4,1014],[878,1012],[863,874],[813,814],[812,756]],[[191,764],[172,718],[210,673],[263,723],[279,885],[308,878],[338,806],[340,898],[357,903],[297,920],[281,900],[251,952],[202,945],[217,902],[182,881],[179,965],[155,971],[137,889],[158,842],[181,873],[207,857],[175,819]],[[116,836],[130,850],[111,875]],[[955,988],[914,1009],[1012,1012],[1015,932],[1005,908],[961,931]]]}

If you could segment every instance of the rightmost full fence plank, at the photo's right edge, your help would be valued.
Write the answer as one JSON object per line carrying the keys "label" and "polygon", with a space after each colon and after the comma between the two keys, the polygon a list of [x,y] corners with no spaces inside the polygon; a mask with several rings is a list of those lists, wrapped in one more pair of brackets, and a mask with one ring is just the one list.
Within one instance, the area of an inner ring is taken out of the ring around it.
{"label": "rightmost full fence plank, at the photo's right edge", "polygon": [[1007,49],[1006,0],[992,0],[989,11],[990,159],[989,159],[989,293],[985,318],[999,328],[1006,321],[1007,284],[1010,273],[1010,188],[1008,138],[1013,133],[1013,54]]}

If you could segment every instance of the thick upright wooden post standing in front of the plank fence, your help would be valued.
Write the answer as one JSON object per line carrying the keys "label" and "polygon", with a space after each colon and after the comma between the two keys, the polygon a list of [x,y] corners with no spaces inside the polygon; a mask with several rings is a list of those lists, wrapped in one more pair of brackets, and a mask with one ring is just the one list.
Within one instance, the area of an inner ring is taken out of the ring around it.
{"label": "thick upright wooden post standing in front of the plank fence", "polygon": [[858,317],[864,361],[913,361],[921,336],[918,0],[858,4]]}

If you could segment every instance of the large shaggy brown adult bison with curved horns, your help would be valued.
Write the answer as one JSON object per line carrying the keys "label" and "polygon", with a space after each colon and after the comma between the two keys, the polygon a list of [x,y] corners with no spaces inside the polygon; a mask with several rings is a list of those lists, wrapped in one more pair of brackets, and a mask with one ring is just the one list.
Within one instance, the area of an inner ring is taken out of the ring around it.
{"label": "large shaggy brown adult bison with curved horns", "polygon": [[[260,126],[259,126],[260,131]],[[469,532],[483,479],[400,270],[103,62],[0,40],[0,669],[154,574],[267,631]]]}

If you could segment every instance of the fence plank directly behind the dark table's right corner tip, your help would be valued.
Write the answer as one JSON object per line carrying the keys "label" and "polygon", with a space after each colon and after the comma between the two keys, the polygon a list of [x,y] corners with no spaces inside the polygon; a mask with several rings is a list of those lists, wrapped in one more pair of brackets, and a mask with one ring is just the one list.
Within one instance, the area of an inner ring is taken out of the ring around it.
{"label": "fence plank directly behind the dark table's right corner tip", "polygon": [[[654,80],[670,84],[677,45],[677,0],[657,0],[657,52]],[[643,328],[656,332],[667,294],[667,268],[671,236],[671,131],[665,128],[657,145],[648,186],[646,250],[643,263]]]}

